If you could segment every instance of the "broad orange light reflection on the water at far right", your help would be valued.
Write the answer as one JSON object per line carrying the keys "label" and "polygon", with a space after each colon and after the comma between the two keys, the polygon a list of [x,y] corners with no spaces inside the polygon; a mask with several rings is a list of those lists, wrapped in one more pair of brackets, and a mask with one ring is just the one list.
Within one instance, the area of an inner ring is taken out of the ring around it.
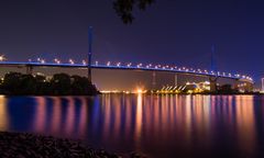
{"label": "broad orange light reflection on the water at far right", "polygon": [[248,154],[255,148],[255,120],[252,95],[235,97],[238,144]]}

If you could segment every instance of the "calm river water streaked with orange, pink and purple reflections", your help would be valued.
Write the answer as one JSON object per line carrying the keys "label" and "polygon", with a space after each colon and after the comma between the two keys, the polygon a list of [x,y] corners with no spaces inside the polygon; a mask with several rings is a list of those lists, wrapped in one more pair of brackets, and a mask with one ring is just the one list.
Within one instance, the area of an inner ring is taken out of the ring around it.
{"label": "calm river water streaked with orange, pink and purple reflections", "polygon": [[264,157],[264,97],[0,97],[0,131],[148,157]]}

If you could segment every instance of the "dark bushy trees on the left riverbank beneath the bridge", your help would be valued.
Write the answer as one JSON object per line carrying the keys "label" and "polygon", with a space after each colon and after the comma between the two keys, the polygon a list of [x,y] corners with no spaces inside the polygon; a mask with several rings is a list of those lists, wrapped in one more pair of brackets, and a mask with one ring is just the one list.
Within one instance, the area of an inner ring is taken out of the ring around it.
{"label": "dark bushy trees on the left riverbank beneath the bridge", "polygon": [[51,78],[41,75],[7,74],[0,83],[0,93],[10,95],[96,95],[96,86],[88,78],[55,74]]}

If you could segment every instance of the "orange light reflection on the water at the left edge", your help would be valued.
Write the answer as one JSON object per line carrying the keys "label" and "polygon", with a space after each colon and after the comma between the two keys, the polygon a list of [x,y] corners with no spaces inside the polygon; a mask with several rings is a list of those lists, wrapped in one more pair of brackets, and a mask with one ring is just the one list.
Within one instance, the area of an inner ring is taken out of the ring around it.
{"label": "orange light reflection on the water at the left edge", "polygon": [[9,116],[7,111],[7,99],[0,95],[0,129],[7,131],[9,128]]}

